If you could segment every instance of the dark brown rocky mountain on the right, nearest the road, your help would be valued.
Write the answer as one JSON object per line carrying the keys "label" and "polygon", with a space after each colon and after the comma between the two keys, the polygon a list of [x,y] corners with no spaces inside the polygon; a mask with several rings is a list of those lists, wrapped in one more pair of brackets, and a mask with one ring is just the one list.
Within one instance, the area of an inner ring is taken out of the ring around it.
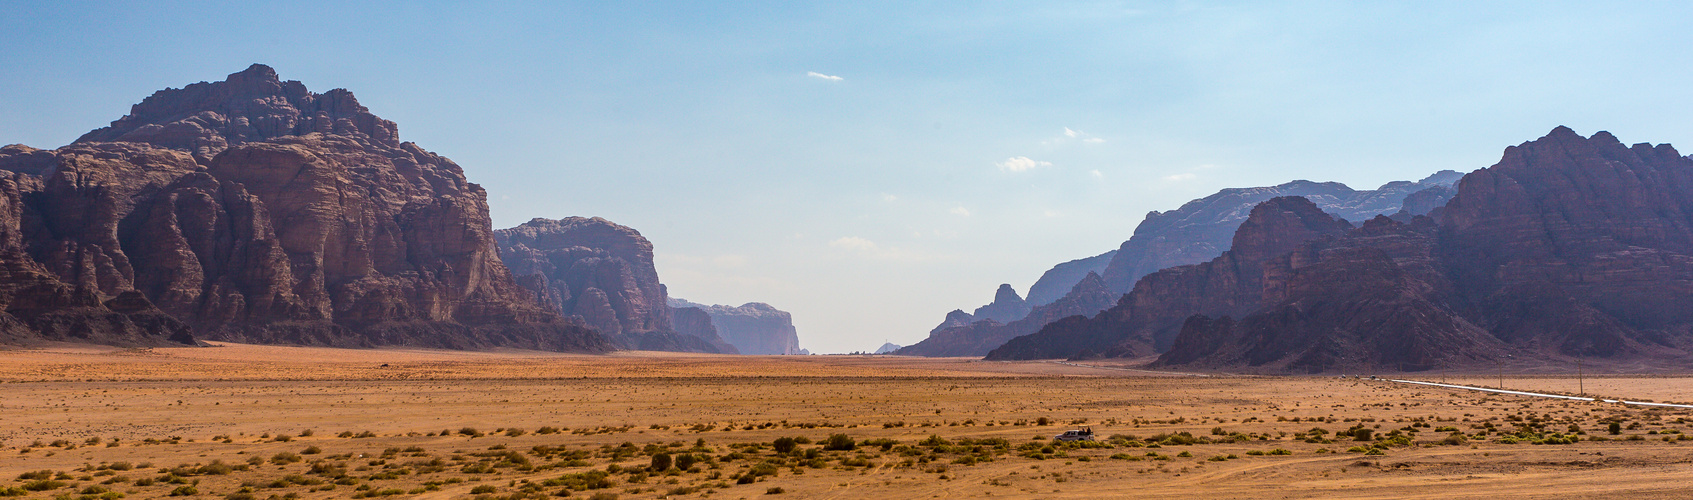
{"label": "dark brown rocky mountain on the right, nearest the road", "polygon": [[[1466,175],[1436,217],[1273,239],[1255,225],[1219,259],[1158,271],[1111,310],[989,358],[1161,351],[1158,366],[1321,371],[1685,361],[1693,347],[1693,159],[1668,144],[1558,127]],[[1217,280],[1229,259],[1238,271]]]}

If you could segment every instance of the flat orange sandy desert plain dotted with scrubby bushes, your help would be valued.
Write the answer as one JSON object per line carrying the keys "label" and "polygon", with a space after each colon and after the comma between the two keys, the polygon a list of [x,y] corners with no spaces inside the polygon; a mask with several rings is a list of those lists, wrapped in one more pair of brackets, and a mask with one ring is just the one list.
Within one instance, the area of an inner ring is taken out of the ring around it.
{"label": "flat orange sandy desert plain dotted with scrubby bushes", "polygon": [[[1129,364],[54,344],[0,351],[0,495],[1693,497],[1693,410]],[[1676,375],[1397,376],[1693,400]]]}

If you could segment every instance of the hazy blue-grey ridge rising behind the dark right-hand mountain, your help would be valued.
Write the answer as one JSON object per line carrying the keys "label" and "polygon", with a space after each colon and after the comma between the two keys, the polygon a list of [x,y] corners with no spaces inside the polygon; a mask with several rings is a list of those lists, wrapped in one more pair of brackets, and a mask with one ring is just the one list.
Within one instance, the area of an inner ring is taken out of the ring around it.
{"label": "hazy blue-grey ridge rising behind the dark right-hand mountain", "polygon": [[[1253,207],[1270,198],[1304,197],[1322,212],[1348,220],[1365,220],[1376,215],[1414,217],[1444,203],[1453,193],[1451,183],[1461,176],[1446,169],[1420,181],[1392,181],[1366,192],[1348,188],[1343,183],[1300,180],[1277,186],[1221,190],[1216,195],[1187,202],[1177,210],[1151,212],[1119,249],[1053,266],[1041,275],[1034,286],[1029,286],[1028,300],[1014,298],[1016,292],[1009,285],[1001,285],[994,293],[994,303],[977,308],[975,314],[948,314],[946,320],[929,332],[929,339],[906,347],[902,354],[982,356],[1004,341],[1033,334],[1058,319],[1077,314],[1094,315],[1114,305],[1117,297],[1128,293],[1134,281],[1151,271],[1195,264],[1222,254],[1229,249],[1234,231],[1246,220]],[[1102,278],[1102,288],[1077,288],[1089,273],[1097,273]],[[1065,302],[1065,307],[1040,308],[1060,302],[1072,290],[1089,297],[1075,297]],[[1102,300],[1100,295],[1106,298]],[[1017,310],[1024,314],[1019,315]],[[1041,314],[1029,314],[1034,310]],[[984,312],[992,315],[984,317]],[[994,324],[977,324],[989,319]],[[948,329],[958,331],[946,332]],[[943,347],[941,344],[951,346]]]}

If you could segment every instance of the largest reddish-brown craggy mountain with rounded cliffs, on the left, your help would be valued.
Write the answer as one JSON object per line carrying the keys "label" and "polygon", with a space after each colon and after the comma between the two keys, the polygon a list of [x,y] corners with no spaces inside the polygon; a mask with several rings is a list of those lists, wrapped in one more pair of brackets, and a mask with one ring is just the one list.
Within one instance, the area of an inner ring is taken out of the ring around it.
{"label": "largest reddish-brown craggy mountain with rounded cliffs, on the left", "polygon": [[0,168],[12,339],[611,349],[516,285],[457,164],[267,66]]}

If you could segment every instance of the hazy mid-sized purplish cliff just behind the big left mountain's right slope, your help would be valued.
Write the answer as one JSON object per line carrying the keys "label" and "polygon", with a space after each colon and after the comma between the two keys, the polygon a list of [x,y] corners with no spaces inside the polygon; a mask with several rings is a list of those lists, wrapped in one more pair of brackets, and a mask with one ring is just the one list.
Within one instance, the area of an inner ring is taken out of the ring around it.
{"label": "hazy mid-sized purplish cliff just behind the big left mountain's right slope", "polygon": [[[628,349],[720,353],[709,336],[679,336],[652,242],[599,217],[532,219],[494,231],[499,258],[518,285],[552,312],[579,317]],[[699,331],[704,334],[704,331]]]}

